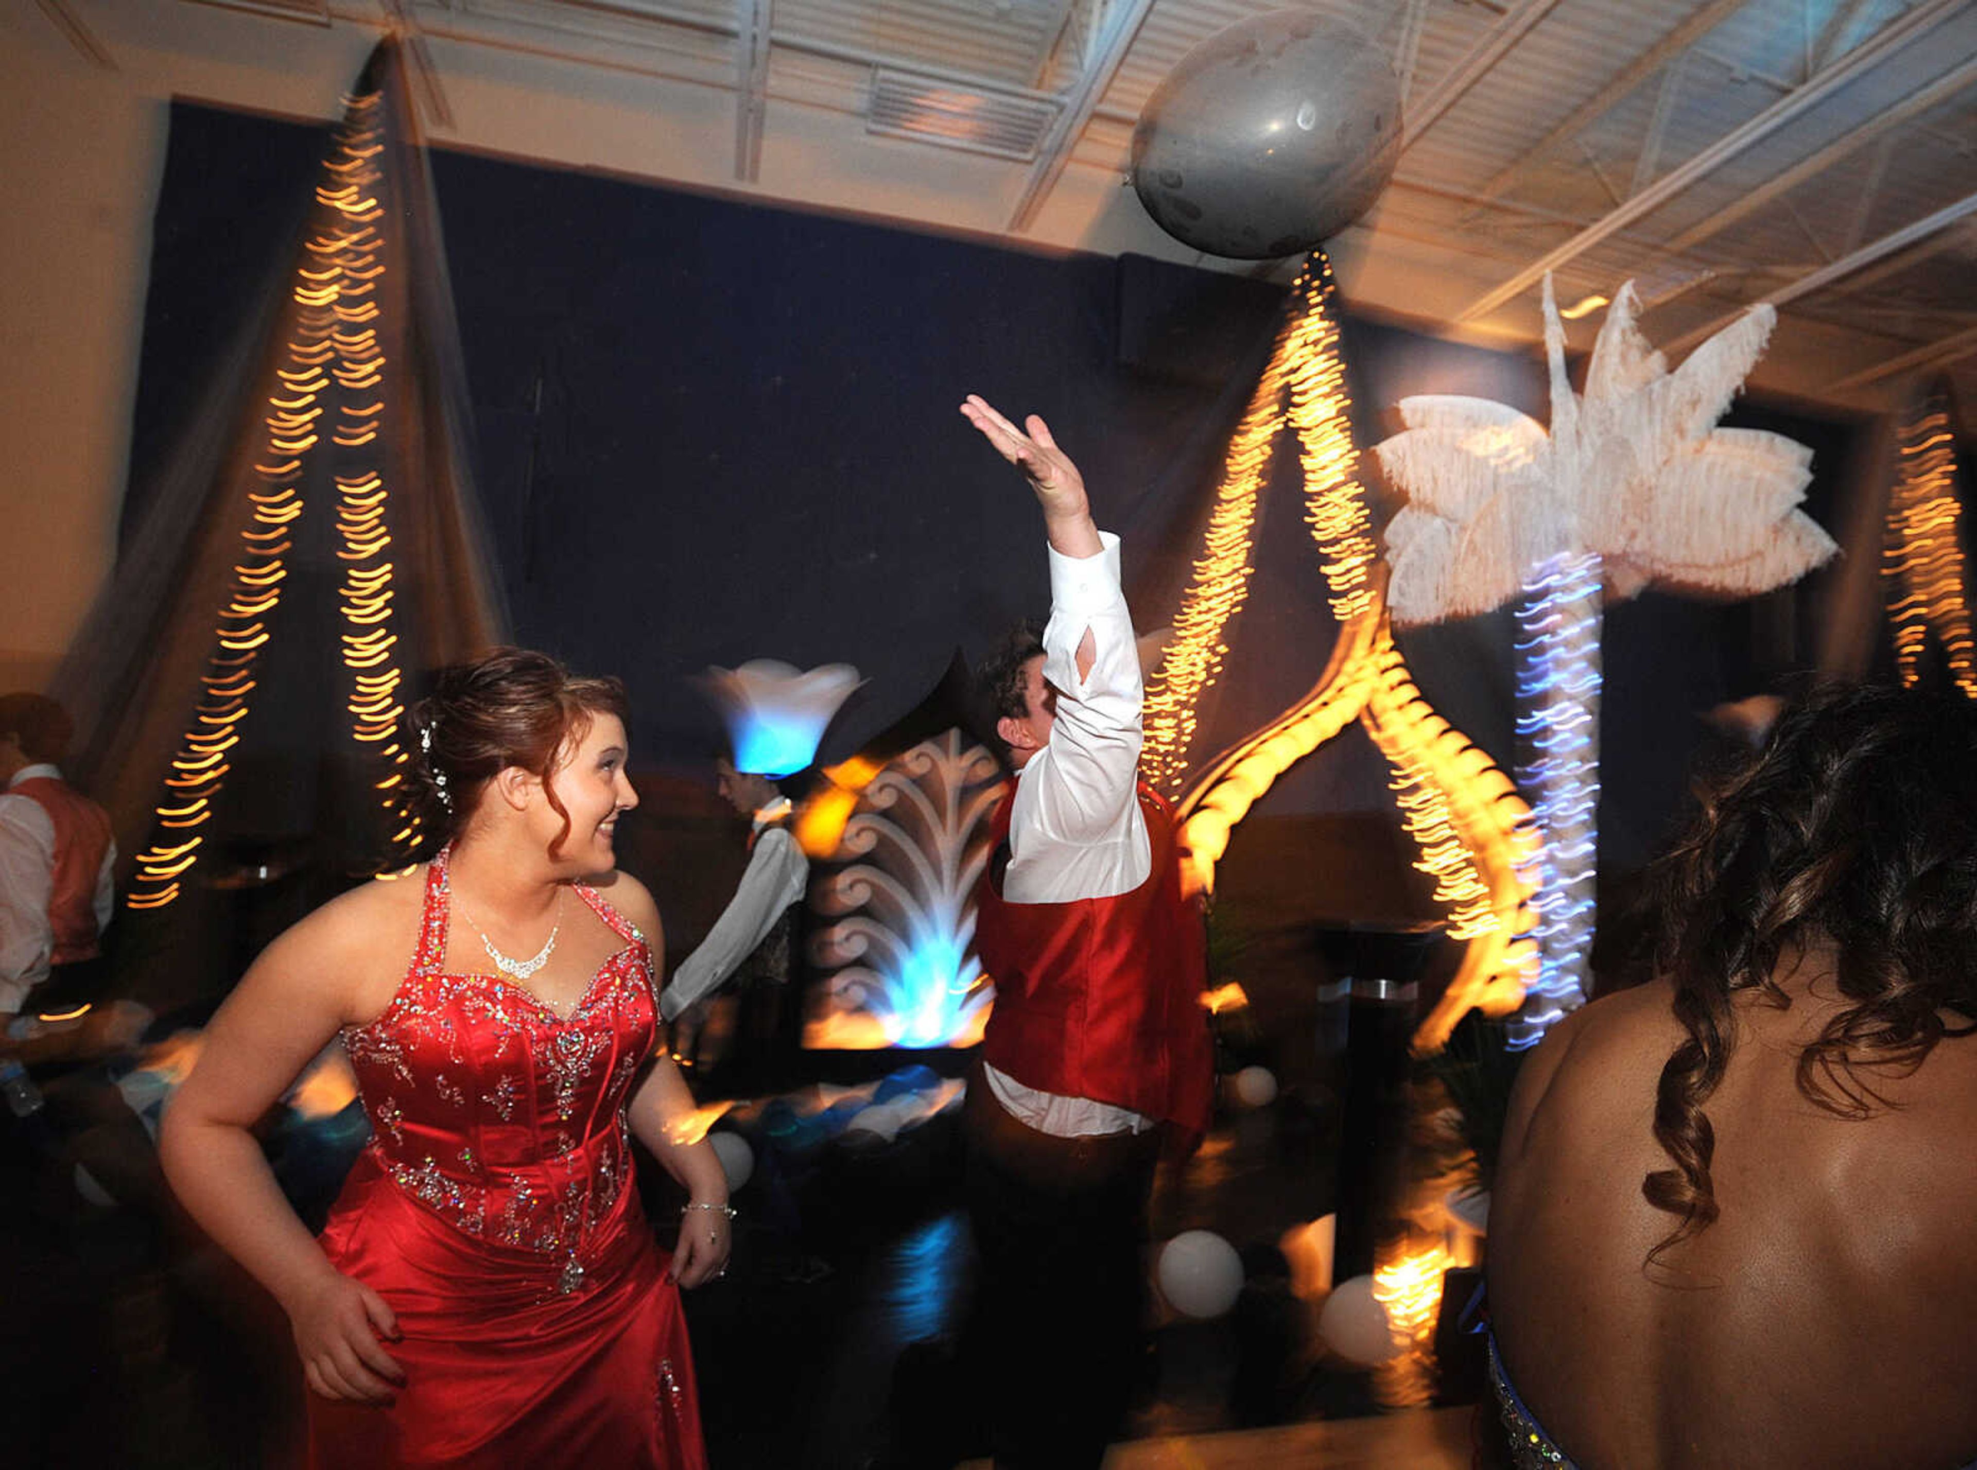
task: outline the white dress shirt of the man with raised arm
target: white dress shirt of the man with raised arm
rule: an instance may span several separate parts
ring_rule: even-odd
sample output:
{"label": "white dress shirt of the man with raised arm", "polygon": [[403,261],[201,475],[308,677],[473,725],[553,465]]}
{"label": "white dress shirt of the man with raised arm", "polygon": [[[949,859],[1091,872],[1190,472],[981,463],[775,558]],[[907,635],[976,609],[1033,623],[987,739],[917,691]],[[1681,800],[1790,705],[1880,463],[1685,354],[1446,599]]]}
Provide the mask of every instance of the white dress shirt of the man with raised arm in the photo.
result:
{"label": "white dress shirt of the man with raised arm", "polygon": [[[1133,614],[1119,587],[1119,537],[1099,531],[1095,557],[1050,549],[1050,624],[1044,678],[1058,692],[1050,741],[1024,761],[1010,796],[1008,903],[1072,903],[1131,893],[1153,871],[1139,810],[1145,690]],[[1091,634],[1091,672],[1077,676],[1077,644]],[[1020,1122],[1056,1138],[1145,1132],[1153,1120],[1085,1097],[1024,1087],[983,1067],[988,1091]]]}

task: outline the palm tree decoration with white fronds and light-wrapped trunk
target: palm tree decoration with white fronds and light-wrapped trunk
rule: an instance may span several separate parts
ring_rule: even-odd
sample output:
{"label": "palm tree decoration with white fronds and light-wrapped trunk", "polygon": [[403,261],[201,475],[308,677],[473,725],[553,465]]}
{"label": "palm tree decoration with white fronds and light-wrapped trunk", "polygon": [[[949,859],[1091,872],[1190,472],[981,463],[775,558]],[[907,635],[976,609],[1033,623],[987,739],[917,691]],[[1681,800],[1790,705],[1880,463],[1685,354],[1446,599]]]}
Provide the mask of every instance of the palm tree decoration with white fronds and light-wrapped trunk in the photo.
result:
{"label": "palm tree decoration with white fronds and light-wrapped trunk", "polygon": [[1714,597],[1783,587],[1833,539],[1797,506],[1811,450],[1718,429],[1771,336],[1754,306],[1673,373],[1637,326],[1629,281],[1578,395],[1544,281],[1552,427],[1504,403],[1410,397],[1374,452],[1408,498],[1386,530],[1396,624],[1473,616],[1518,599],[1518,741],[1538,846],[1538,978],[1514,1023],[1530,1045],[1588,994],[1599,804],[1601,599],[1647,585]]}

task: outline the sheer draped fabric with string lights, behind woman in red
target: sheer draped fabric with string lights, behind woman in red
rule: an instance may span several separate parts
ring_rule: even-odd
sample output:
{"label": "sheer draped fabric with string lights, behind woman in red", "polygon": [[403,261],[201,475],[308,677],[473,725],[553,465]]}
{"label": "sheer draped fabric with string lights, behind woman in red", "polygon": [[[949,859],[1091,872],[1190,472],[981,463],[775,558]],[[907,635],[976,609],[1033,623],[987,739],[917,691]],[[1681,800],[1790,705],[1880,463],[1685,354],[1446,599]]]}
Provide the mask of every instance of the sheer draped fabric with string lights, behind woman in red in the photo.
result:
{"label": "sheer draped fabric with string lights, behind woman in red", "polygon": [[[354,739],[356,707],[403,703],[425,668],[506,630],[469,476],[469,393],[439,213],[397,41],[378,45],[348,107],[318,142],[314,178],[225,196],[229,215],[291,221],[277,273],[255,273],[245,288],[231,273],[192,290],[152,281],[146,336],[194,344],[188,364],[208,381],[176,393],[170,447],[138,445],[138,512],[49,688],[75,719],[65,771],[109,808],[127,869],[152,836],[160,848],[202,838],[196,881],[235,842],[312,834],[330,867],[372,871],[399,824],[370,792],[384,743]],[[348,160],[338,162],[352,148],[366,164],[362,215],[338,194],[352,186]],[[332,283],[340,294],[328,300],[322,243],[338,233],[356,241],[360,279]],[[202,356],[214,322],[237,310],[219,300],[241,294],[257,308],[229,346]],[[376,371],[354,371],[356,362]],[[320,366],[320,383],[304,381],[301,364]],[[281,512],[283,537],[269,541],[277,496],[299,510]],[[281,565],[259,567],[257,553]],[[253,622],[229,636],[223,609],[241,597],[241,565],[255,567]],[[358,583],[352,565],[364,569]],[[376,601],[380,591],[387,601]],[[387,642],[352,642],[370,630]],[[382,662],[378,648],[389,650]],[[356,676],[378,680],[387,666],[403,682],[376,701],[386,686],[366,690]],[[164,784],[174,751],[233,670],[251,674],[253,694],[245,715],[225,711],[237,739],[212,773],[210,816],[154,834],[158,808],[188,800]]]}

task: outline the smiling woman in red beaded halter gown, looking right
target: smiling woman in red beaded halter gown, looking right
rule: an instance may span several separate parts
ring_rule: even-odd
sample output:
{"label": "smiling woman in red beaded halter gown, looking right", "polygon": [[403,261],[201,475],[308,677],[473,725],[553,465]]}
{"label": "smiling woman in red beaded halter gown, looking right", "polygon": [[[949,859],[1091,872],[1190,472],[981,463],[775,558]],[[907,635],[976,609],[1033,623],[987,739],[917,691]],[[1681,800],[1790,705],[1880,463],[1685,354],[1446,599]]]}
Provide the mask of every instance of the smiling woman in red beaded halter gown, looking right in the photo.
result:
{"label": "smiling woman in red beaded halter gown, looking right", "polygon": [[[728,1187],[654,1047],[658,911],[613,869],[623,692],[500,650],[413,729],[449,846],[255,960],[166,1114],[166,1172],[287,1310],[316,1466],[700,1470],[678,1286],[724,1270]],[[372,1142],[312,1239],[249,1126],[338,1033]],[[670,1263],[629,1134],[688,1189]]]}

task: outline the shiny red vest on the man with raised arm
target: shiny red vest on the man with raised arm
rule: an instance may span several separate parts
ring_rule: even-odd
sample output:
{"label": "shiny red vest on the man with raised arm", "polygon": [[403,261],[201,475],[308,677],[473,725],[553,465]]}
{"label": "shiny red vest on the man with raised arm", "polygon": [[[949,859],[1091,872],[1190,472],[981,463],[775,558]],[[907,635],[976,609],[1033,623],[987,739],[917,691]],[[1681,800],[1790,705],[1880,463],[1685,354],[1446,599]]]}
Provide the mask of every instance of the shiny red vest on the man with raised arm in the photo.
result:
{"label": "shiny red vest on the man with raised arm", "polygon": [[[1010,782],[996,850],[1014,804]],[[1153,871],[1131,893],[1008,903],[990,861],[975,889],[975,948],[996,992],[983,1059],[1024,1087],[1159,1118],[1192,1144],[1214,1099],[1202,915],[1180,897],[1174,810],[1147,786],[1139,806]]]}

